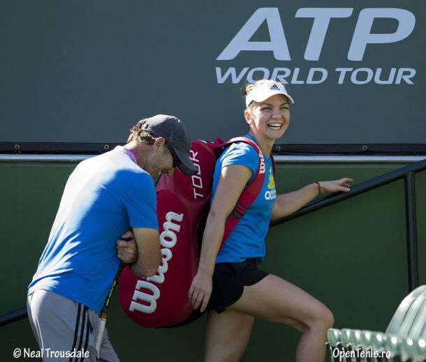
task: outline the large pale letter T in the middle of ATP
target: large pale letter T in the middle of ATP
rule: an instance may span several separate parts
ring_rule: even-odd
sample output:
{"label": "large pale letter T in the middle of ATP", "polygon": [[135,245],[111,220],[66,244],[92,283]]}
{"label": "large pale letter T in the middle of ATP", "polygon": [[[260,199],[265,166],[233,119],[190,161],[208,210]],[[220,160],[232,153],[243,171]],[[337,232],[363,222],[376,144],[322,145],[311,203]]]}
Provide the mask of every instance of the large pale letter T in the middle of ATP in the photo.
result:
{"label": "large pale letter T in the middle of ATP", "polygon": [[323,49],[325,34],[330,19],[334,17],[350,17],[353,8],[301,8],[295,17],[314,17],[311,35],[304,52],[304,59],[317,61]]}

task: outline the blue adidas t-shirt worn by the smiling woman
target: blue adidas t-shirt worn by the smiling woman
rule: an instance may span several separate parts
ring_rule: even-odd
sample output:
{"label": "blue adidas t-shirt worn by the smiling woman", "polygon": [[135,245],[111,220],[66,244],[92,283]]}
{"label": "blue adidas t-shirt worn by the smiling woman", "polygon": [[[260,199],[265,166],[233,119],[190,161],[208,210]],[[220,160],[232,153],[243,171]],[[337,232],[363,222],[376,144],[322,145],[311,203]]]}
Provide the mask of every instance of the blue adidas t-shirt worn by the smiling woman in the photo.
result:
{"label": "blue adidas t-shirt worn by the smiling woman", "polygon": [[[245,135],[244,137],[249,137],[256,142],[256,139],[251,135]],[[247,209],[244,216],[238,221],[221,250],[219,250],[216,263],[243,262],[245,259],[252,257],[258,258],[260,262],[265,257],[265,236],[277,194],[275,191],[272,160],[265,155],[263,156],[265,157],[266,174],[260,193],[249,209]],[[252,146],[243,142],[231,144],[216,161],[212,197],[216,193],[216,186],[223,167],[228,165],[244,165],[249,167],[253,174],[255,174],[258,164],[259,156]]]}

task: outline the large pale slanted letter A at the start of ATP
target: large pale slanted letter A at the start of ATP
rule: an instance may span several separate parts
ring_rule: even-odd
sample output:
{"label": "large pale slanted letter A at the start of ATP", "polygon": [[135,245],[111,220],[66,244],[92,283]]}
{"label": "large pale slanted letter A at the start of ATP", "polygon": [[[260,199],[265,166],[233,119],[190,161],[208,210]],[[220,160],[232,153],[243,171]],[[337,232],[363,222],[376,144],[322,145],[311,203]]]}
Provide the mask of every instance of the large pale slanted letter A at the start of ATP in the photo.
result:
{"label": "large pale slanted letter A at the start of ATP", "polygon": [[[265,20],[271,41],[249,41]],[[278,8],[259,8],[256,10],[216,60],[232,60],[242,50],[272,50],[275,59],[291,60]]]}

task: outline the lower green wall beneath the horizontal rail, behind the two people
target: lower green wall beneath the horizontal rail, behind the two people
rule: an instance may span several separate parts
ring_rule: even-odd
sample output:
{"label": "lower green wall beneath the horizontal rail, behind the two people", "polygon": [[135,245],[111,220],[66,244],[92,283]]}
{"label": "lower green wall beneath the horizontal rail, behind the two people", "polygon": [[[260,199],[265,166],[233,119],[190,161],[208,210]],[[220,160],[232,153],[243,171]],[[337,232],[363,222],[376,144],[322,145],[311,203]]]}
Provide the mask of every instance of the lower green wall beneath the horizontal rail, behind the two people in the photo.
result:
{"label": "lower green wall beneath the horizontal rail, behind the two people", "polygon": [[[282,193],[323,179],[360,183],[403,164],[280,164]],[[71,163],[0,163],[2,218],[0,314],[25,306],[27,285],[47,241]],[[426,172],[416,175],[420,284],[426,284]],[[263,269],[325,303],[337,328],[384,331],[408,293],[404,182],[372,190],[270,229]],[[133,324],[115,296],[108,316],[122,361],[201,361],[204,319],[178,329]],[[299,333],[257,321],[242,361],[291,361]],[[232,342],[232,341],[231,341]],[[27,319],[0,329],[2,361],[13,349],[36,349]],[[33,359],[34,361],[34,359]]]}

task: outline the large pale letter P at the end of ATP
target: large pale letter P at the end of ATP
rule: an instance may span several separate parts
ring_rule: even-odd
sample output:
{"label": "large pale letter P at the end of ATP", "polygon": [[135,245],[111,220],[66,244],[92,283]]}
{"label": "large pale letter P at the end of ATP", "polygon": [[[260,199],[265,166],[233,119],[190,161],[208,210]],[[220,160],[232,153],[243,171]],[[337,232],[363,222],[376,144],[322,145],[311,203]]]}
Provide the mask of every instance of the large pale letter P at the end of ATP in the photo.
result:
{"label": "large pale letter P at the end of ATP", "polygon": [[[373,22],[376,17],[387,17],[398,21],[395,33],[372,34]],[[353,33],[348,59],[362,61],[367,44],[395,43],[411,34],[416,24],[416,17],[408,10],[397,8],[368,8],[361,10]]]}

